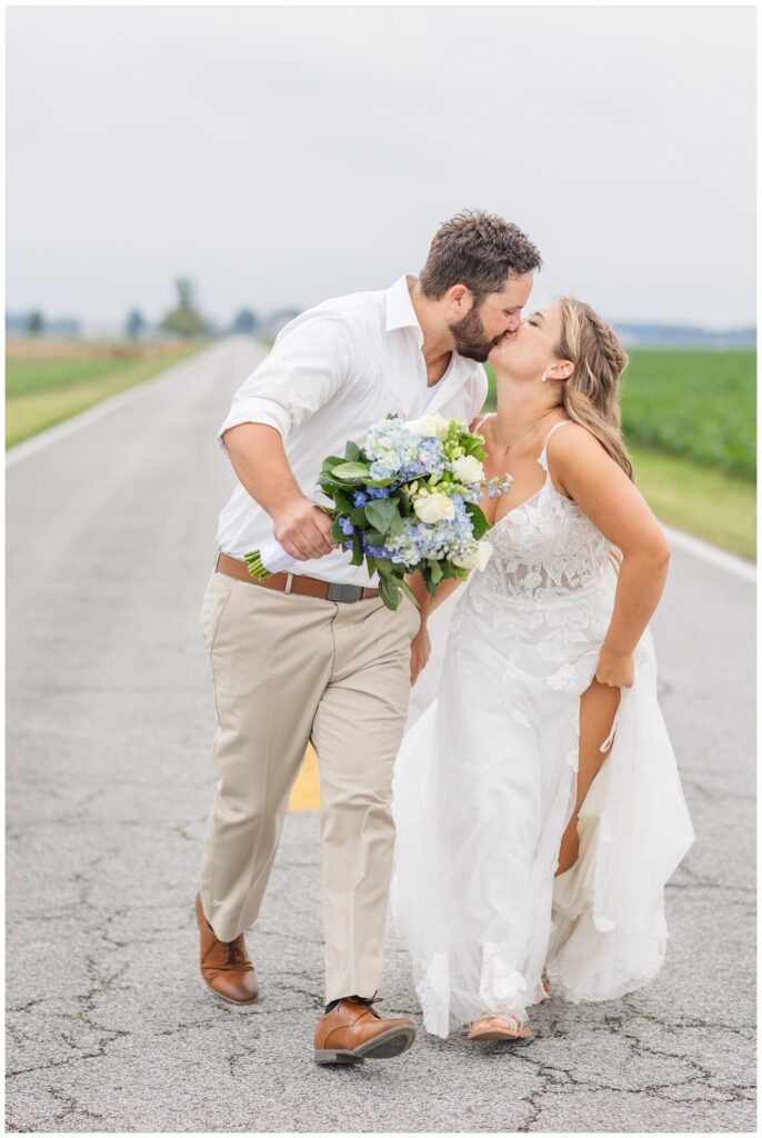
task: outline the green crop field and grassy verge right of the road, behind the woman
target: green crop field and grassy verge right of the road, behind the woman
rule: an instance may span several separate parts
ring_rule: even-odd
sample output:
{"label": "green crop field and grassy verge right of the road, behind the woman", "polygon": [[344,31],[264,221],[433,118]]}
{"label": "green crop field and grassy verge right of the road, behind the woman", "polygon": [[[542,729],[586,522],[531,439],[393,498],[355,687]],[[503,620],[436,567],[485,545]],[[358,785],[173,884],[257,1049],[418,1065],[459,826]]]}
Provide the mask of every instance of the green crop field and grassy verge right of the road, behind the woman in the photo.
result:
{"label": "green crop field and grassy verge right of the road, behind the woman", "polygon": [[[668,525],[754,558],[756,355],[633,348],[622,380],[636,483]],[[496,406],[495,377],[488,404]]]}

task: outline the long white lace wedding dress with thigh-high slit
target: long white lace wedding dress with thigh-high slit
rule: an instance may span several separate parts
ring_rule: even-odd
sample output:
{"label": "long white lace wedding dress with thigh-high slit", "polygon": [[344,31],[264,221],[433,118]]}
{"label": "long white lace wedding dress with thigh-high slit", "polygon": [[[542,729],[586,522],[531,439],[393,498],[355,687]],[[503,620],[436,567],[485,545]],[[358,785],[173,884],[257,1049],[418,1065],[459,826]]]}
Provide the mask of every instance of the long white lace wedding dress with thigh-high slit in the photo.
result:
{"label": "long white lace wedding dress with thigh-high slit", "polygon": [[[557,423],[553,431],[558,427]],[[548,438],[553,434],[549,432]],[[489,531],[454,610],[438,698],[397,758],[391,910],[424,1025],[522,1023],[545,998],[614,999],[664,962],[663,890],[694,840],[647,629],[607,757],[555,877],[577,793],[580,696],[611,619],[611,545],[553,485]]]}

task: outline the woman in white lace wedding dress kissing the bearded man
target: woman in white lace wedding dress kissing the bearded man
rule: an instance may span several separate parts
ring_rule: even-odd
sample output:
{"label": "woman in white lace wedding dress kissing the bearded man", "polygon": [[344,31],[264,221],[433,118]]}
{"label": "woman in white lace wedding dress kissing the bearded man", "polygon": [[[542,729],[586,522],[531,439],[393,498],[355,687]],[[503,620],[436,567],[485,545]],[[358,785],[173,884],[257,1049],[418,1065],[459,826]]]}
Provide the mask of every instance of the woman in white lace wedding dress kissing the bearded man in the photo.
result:
{"label": "woman in white lace wedding dress kissing the bearded man", "polygon": [[[516,1039],[550,987],[614,999],[656,975],[664,885],[694,833],[656,702],[647,625],[669,549],[621,437],[627,356],[562,299],[490,362],[497,414],[473,426],[486,477],[513,485],[483,503],[492,555],[397,758],[391,905],[426,1030]],[[424,611],[414,670],[457,584]]]}

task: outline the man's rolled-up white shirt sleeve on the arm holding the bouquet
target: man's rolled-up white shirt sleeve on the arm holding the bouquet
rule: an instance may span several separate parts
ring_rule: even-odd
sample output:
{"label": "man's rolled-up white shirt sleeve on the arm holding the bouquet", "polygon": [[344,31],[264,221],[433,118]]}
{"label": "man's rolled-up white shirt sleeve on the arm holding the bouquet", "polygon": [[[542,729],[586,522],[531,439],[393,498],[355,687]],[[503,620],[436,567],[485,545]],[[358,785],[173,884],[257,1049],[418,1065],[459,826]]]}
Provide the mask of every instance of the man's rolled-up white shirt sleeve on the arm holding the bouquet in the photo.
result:
{"label": "man's rolled-up white shirt sleeve on the arm holding the bouquet", "polygon": [[358,374],[357,337],[345,316],[310,310],[279,335],[266,360],[233,396],[217,431],[240,423],[265,423],[283,439]]}

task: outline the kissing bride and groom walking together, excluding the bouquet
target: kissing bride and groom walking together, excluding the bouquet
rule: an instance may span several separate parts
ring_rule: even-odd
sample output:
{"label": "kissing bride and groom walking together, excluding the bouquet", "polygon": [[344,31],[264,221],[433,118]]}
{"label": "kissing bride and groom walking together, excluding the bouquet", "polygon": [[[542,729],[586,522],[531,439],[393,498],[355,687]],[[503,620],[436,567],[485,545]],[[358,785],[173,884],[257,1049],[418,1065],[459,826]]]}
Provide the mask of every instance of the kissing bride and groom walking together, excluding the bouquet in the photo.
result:
{"label": "kissing bride and groom walking together, excluding the bouquet", "polygon": [[[466,212],[420,275],[291,321],[218,431],[238,479],[201,624],[218,775],[196,909],[216,997],[252,1005],[245,941],[291,786],[318,757],[325,1011],[318,1063],[403,1054],[409,1017],[376,1008],[387,909],[426,1031],[531,1036],[554,995],[614,999],[660,971],[664,885],[693,827],[656,700],[648,621],[664,536],[621,434],[627,356],[587,304],[528,318],[535,245]],[[497,411],[482,414],[489,360]],[[484,439],[491,556],[387,608],[331,536],[323,460],[395,413],[461,419]],[[246,554],[275,537],[293,571]],[[458,586],[437,699],[406,733],[428,620]]]}

